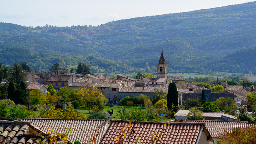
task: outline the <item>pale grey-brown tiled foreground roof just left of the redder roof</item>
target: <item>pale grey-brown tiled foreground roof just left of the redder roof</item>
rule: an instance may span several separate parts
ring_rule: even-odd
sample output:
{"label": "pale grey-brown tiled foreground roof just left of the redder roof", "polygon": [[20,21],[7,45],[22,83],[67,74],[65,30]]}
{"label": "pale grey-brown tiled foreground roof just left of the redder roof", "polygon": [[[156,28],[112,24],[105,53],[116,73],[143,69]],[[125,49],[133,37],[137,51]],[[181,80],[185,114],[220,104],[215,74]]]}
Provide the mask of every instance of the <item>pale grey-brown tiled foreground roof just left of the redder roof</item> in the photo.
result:
{"label": "pale grey-brown tiled foreground roof just left of the redder roof", "polygon": [[[108,127],[107,119],[42,119],[42,118],[22,118],[22,122],[31,122],[43,132],[48,133],[49,129],[56,132],[68,132],[70,140],[78,140],[81,143],[88,143],[92,134],[95,136],[96,142],[99,143]],[[68,131],[69,127],[74,127],[72,133]],[[49,128],[49,129],[48,129]],[[94,130],[98,130],[99,133]],[[51,132],[50,134],[53,134]],[[70,135],[72,134],[72,136]],[[85,141],[84,141],[85,140]]]}

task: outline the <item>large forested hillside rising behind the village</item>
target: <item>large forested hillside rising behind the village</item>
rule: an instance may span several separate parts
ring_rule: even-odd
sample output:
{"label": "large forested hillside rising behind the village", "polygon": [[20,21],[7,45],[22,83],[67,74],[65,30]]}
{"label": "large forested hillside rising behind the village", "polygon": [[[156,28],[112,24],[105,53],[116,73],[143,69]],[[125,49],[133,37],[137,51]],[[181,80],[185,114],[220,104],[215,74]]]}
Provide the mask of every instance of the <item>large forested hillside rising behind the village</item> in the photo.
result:
{"label": "large forested hillside rising behind the village", "polygon": [[256,61],[255,23],[256,2],[118,20],[96,27],[47,24],[33,28],[0,23],[0,48],[28,49],[37,57],[41,53],[50,57],[58,54],[60,60],[65,56],[80,56],[78,60],[84,56],[101,57],[129,65],[128,72],[145,68],[146,62],[149,67],[156,66],[163,49],[169,71],[256,74],[252,62]]}

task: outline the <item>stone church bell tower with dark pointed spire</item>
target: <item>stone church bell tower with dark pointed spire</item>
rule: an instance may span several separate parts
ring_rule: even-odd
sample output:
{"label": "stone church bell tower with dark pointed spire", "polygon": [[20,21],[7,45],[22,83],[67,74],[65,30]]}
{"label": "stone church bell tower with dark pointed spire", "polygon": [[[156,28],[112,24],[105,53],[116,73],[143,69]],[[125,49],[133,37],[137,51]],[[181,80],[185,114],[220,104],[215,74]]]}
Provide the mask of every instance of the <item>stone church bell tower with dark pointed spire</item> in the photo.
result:
{"label": "stone church bell tower with dark pointed spire", "polygon": [[168,74],[167,65],[168,64],[167,64],[167,62],[165,62],[163,50],[162,50],[159,62],[156,65],[157,65],[157,69],[156,69],[157,78],[166,78],[167,79],[167,74]]}

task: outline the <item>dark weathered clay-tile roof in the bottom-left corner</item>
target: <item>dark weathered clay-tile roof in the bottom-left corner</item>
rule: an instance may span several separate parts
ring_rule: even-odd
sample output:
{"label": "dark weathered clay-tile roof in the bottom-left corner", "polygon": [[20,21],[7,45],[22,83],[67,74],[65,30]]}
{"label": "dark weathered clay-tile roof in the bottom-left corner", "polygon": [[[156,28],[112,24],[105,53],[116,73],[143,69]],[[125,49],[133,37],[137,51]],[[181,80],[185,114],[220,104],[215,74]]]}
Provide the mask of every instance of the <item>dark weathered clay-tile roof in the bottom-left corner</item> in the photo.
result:
{"label": "dark weathered clay-tile roof in the bottom-left corner", "polygon": [[[38,144],[39,139],[42,143],[48,143],[48,133],[40,130],[31,122],[24,121],[0,121],[0,142],[3,144]],[[40,136],[41,135],[41,136]],[[68,144],[73,144],[67,140]]]}

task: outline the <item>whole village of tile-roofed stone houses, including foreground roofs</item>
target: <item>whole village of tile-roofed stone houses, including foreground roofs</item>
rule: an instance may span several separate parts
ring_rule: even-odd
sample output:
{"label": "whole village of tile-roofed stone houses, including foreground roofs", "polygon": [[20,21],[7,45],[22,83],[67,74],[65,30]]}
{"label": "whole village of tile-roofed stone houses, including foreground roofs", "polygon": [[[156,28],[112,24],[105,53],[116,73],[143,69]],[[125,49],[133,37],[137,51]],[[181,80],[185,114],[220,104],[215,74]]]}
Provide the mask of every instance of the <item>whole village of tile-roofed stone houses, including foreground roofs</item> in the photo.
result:
{"label": "whole village of tile-roofed stone houses, including foreground roofs", "polygon": [[[140,120],[138,117],[131,120],[116,119],[114,116],[117,116],[117,111],[113,111],[113,109],[112,111],[108,111],[106,116],[103,116],[107,119],[79,119],[78,117],[75,119],[59,119],[57,117],[48,118],[47,116],[41,116],[41,118],[21,117],[21,120],[14,121],[1,119],[1,142],[22,144],[40,143],[40,135],[44,136],[41,141],[46,142],[48,140],[46,135],[50,130],[49,133],[52,134],[50,136],[53,140],[64,140],[66,143],[70,144],[213,144],[225,143],[225,139],[221,137],[224,136],[225,132],[232,132],[232,130],[236,128],[245,129],[255,127],[254,121],[245,121],[240,118],[240,115],[244,113],[247,116],[255,112],[253,108],[247,108],[247,105],[250,105],[247,97],[248,94],[255,93],[256,85],[245,88],[243,85],[229,85],[227,82],[221,82],[218,87],[222,86],[222,89],[214,91],[214,85],[206,88],[201,84],[193,84],[193,82],[190,81],[186,82],[183,76],[168,77],[167,65],[162,51],[159,61],[156,64],[156,78],[140,76],[140,79],[134,79],[122,74],[117,74],[116,77],[103,76],[103,74],[92,76],[90,74],[66,73],[64,70],[49,71],[41,74],[36,73],[35,70],[24,72],[23,75],[25,74],[26,84],[28,85],[26,89],[30,91],[30,93],[36,91],[37,93],[40,92],[48,96],[47,93],[49,92],[47,92],[47,90],[50,91],[50,87],[53,87],[56,92],[62,91],[64,88],[68,89],[68,91],[83,90],[86,88],[90,91],[91,88],[96,88],[95,90],[101,92],[102,96],[107,101],[107,103],[104,103],[103,108],[105,105],[108,107],[115,107],[116,105],[132,106],[136,104],[134,100],[132,101],[132,98],[138,97],[139,100],[141,97],[145,97],[144,102],[142,101],[141,104],[144,105],[148,113],[153,113],[155,119],[150,121],[148,118]],[[156,104],[160,103],[161,100],[166,101],[161,101],[162,104],[157,106],[156,104],[152,105],[152,101],[149,98],[152,98],[153,94],[157,95],[159,93],[166,96],[171,86],[170,84],[176,86],[178,106],[172,107],[171,109],[167,108],[168,96],[167,100],[164,96],[163,98],[156,98],[157,96],[153,97],[153,101],[155,99],[157,100],[153,102]],[[51,86],[49,87],[49,85]],[[209,105],[214,109],[213,111],[210,110],[212,108],[205,106],[205,103],[213,104],[218,100],[226,99],[231,101],[222,101],[222,104],[218,105],[218,108],[214,108],[217,107],[216,104]],[[72,102],[75,100],[79,100],[79,98],[73,97],[66,101]],[[95,99],[95,101],[97,100]],[[150,104],[145,102],[147,100]],[[175,101],[175,99],[173,100]],[[52,108],[60,108],[64,111],[65,109],[68,110],[67,102],[58,102],[58,104]],[[50,102],[48,101],[48,103]],[[44,104],[47,105],[47,103]],[[234,108],[230,110],[228,109],[229,106],[223,106],[230,104],[230,107],[234,107],[236,110]],[[74,103],[72,103],[72,105],[75,106]],[[192,109],[193,107],[196,109]],[[197,109],[199,107],[203,107],[204,110]],[[51,107],[46,106],[46,109],[49,108],[51,109]],[[153,108],[155,108],[154,111],[152,110]],[[237,108],[240,109],[237,110]],[[97,110],[92,108],[92,111]],[[116,114],[114,115],[113,113]],[[140,113],[146,113],[146,111],[140,111]],[[120,112],[118,114],[120,114]],[[40,113],[40,115],[42,115],[42,113]],[[160,122],[160,119],[156,120],[158,116],[169,117],[170,121]],[[58,132],[66,132],[66,135],[62,135],[62,139],[60,139],[61,136],[59,137],[55,134]],[[34,135],[31,136],[31,134]]]}

